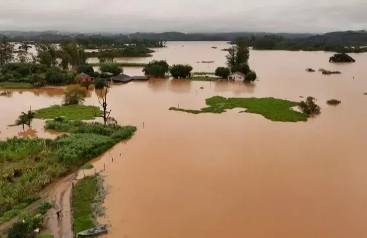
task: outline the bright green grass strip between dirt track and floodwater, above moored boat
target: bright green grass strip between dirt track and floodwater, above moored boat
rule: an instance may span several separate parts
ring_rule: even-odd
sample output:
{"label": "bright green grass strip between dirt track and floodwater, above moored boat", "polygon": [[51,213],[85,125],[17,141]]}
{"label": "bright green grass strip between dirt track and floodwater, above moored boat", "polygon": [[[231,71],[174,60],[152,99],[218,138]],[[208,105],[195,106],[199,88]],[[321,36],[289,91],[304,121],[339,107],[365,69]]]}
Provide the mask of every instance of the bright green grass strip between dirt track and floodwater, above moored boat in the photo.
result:
{"label": "bright green grass strip between dirt track and floodwater, above moored boat", "polygon": [[97,196],[98,180],[96,176],[86,177],[74,187],[74,223],[75,232],[94,227],[92,204]]}

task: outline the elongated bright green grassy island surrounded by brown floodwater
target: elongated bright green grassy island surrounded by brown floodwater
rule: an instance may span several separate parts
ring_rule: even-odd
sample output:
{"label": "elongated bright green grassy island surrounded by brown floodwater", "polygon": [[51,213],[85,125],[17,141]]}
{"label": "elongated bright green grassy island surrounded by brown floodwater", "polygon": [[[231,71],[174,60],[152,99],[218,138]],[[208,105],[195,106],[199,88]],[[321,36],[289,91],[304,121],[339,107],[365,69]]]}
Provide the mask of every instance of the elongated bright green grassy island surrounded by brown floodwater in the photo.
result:
{"label": "elongated bright green grassy island surrounded by brown floodwater", "polygon": [[307,121],[309,117],[305,113],[291,110],[291,107],[298,106],[298,102],[292,102],[275,98],[224,98],[214,96],[205,100],[208,107],[200,110],[187,110],[171,107],[169,110],[189,112],[193,114],[199,113],[223,113],[226,109],[246,108],[247,113],[255,113],[264,116],[271,121]]}

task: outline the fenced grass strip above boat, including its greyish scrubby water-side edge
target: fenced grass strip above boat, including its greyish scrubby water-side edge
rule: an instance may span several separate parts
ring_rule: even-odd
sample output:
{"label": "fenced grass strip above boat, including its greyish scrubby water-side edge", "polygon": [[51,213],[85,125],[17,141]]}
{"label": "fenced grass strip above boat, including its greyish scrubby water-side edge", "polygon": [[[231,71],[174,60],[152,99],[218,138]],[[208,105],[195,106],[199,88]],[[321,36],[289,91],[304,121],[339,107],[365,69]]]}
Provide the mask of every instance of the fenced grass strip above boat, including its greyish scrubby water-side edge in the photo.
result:
{"label": "fenced grass strip above boat, including its greyish scrubby water-side edge", "polygon": [[74,224],[75,232],[95,226],[94,220],[103,214],[104,199],[102,179],[98,176],[86,177],[74,187]]}

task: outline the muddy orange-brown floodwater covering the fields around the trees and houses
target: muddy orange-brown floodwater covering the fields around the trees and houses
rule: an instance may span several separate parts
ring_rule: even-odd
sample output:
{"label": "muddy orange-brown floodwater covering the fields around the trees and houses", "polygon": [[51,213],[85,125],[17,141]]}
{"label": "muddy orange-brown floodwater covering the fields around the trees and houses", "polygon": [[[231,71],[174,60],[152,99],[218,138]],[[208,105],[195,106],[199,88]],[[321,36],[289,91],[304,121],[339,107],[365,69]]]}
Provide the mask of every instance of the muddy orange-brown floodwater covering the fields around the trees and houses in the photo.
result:
{"label": "muddy orange-brown floodwater covering the fields around the trees and houses", "polygon": [[[154,53],[157,59],[189,63],[194,71],[213,71],[225,61],[223,42],[168,45]],[[112,87],[111,116],[138,130],[94,162],[97,170],[106,169],[109,193],[100,222],[110,225],[108,237],[367,237],[367,54],[350,54],[356,59],[350,64],[328,63],[331,54],[251,51],[249,63],[259,76],[253,85],[153,80]],[[196,63],[201,60],[215,62]],[[342,74],[306,72],[308,67]],[[30,104],[38,109],[62,100],[59,93],[36,92],[42,91],[0,97],[1,138],[22,130],[6,125]],[[286,123],[239,110],[168,111],[178,104],[203,107],[214,95],[313,96],[322,113]],[[332,98],[342,103],[327,106]],[[94,92],[86,104],[98,104]],[[54,136],[42,126],[36,120],[32,129]]]}

